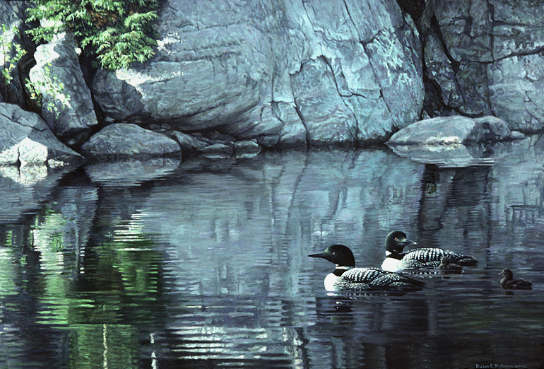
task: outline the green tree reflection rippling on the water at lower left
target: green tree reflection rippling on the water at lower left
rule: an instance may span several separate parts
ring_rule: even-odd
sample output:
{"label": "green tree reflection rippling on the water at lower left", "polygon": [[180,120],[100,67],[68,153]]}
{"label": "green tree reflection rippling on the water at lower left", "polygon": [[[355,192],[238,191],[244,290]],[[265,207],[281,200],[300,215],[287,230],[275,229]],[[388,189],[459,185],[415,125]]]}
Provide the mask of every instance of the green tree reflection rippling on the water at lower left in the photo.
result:
{"label": "green tree reflection rippling on the water at lower left", "polygon": [[[0,230],[0,305],[32,291],[34,323],[69,330],[61,344],[67,368],[138,368],[145,346],[140,324],[154,324],[162,310],[162,254],[137,219],[88,230],[93,235],[85,245],[74,242],[77,221],[52,204],[25,237],[16,237],[16,226]],[[37,272],[29,279],[31,270]]]}

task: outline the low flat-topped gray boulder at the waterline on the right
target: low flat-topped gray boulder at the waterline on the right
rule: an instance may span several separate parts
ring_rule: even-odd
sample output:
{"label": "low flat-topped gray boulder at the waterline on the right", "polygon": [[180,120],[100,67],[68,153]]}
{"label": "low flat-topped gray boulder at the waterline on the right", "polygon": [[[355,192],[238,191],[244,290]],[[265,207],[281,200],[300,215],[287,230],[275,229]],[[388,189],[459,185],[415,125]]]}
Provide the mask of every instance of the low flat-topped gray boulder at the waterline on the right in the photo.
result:
{"label": "low flat-topped gray boulder at the waterline on the right", "polygon": [[420,120],[396,132],[388,145],[459,146],[512,139],[506,122],[497,117],[472,119],[460,115]]}

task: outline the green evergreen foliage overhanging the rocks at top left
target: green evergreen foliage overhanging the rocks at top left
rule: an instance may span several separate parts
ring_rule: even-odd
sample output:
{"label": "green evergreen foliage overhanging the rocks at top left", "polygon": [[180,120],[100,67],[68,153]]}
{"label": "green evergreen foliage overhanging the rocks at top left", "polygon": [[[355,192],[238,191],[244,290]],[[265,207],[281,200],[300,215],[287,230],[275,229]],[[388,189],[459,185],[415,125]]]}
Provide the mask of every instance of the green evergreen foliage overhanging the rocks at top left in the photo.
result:
{"label": "green evergreen foliage overhanging the rocks at top left", "polygon": [[82,49],[105,69],[122,69],[153,56],[152,22],[159,0],[32,0],[29,21],[41,21],[29,30],[39,42],[70,30]]}

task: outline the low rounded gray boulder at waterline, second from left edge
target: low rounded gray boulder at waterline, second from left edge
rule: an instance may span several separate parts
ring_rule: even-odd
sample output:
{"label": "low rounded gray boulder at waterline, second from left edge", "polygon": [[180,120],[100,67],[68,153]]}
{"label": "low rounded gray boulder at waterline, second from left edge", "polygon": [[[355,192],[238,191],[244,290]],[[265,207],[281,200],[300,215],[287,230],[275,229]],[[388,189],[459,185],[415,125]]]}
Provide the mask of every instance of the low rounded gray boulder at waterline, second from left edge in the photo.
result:
{"label": "low rounded gray boulder at waterline, second from left edge", "polygon": [[179,144],[165,134],[136,124],[111,124],[90,137],[81,150],[99,159],[181,155]]}

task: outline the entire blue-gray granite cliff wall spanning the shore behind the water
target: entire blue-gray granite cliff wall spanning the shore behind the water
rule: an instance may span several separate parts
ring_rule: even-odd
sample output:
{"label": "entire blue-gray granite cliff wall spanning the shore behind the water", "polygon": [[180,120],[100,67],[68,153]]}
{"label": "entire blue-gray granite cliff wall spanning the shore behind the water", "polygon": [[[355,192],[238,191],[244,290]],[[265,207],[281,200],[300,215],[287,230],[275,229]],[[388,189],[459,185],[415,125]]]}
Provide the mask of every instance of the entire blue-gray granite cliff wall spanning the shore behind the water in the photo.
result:
{"label": "entire blue-gray granite cliff wall spanning the shore behind the water", "polygon": [[[23,35],[28,4],[0,0],[0,23]],[[70,103],[37,112],[95,157],[359,147],[449,115],[530,134],[544,127],[543,13],[512,0],[167,0],[155,57],[126,70],[82,69],[70,35],[37,49],[11,35],[29,57],[1,98],[32,107],[24,78],[49,66]],[[157,134],[165,144],[144,149]]]}

